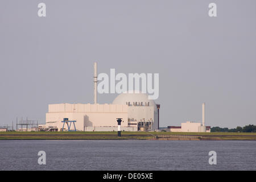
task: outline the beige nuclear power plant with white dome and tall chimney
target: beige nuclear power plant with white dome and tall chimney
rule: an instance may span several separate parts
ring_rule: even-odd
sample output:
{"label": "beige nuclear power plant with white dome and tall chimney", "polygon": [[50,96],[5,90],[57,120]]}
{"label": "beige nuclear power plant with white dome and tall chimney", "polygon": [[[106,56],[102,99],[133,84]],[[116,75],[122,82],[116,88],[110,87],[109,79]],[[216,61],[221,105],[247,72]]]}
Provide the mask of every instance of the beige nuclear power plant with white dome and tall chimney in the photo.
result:
{"label": "beige nuclear power plant with white dome and tall chimney", "polygon": [[41,131],[155,131],[159,129],[159,108],[144,93],[119,94],[112,104],[98,104],[97,63],[94,63],[94,104],[50,104]]}

